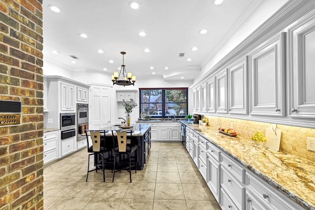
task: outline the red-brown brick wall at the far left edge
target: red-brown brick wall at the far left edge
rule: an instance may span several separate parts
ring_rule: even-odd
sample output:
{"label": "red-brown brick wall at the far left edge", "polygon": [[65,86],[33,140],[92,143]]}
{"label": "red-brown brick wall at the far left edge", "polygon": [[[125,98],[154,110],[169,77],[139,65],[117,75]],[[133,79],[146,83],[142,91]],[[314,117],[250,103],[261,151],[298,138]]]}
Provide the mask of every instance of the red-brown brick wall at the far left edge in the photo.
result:
{"label": "red-brown brick wall at the far left edge", "polygon": [[0,210],[43,209],[42,0],[0,1],[0,100],[22,124],[0,127]]}

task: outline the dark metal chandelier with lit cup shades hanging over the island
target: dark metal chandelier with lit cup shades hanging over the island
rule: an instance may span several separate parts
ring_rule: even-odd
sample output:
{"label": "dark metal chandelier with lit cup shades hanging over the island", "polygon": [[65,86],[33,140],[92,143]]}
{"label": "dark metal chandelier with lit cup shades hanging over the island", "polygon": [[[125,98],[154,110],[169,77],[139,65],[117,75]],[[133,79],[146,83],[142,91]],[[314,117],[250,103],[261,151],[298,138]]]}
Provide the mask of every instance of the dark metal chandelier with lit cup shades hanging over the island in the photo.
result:
{"label": "dark metal chandelier with lit cup shades hanging over the island", "polygon": [[123,85],[123,86],[128,86],[128,85],[133,85],[136,82],[136,76],[132,76],[131,72],[126,73],[126,68],[124,64],[124,55],[126,54],[125,52],[120,52],[123,55],[123,65],[122,68],[120,69],[120,72],[118,74],[118,71],[115,71],[114,74],[112,74],[112,81],[113,85]]}

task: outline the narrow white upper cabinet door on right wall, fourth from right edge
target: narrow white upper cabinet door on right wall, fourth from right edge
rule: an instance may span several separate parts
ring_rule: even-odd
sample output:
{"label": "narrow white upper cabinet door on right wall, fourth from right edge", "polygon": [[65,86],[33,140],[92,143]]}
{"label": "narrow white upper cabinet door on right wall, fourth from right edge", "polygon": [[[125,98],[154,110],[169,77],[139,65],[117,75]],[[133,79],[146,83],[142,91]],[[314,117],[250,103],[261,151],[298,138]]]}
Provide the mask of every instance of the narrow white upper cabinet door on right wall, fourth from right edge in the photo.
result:
{"label": "narrow white upper cabinet door on right wall, fourth from right edge", "polygon": [[217,113],[227,113],[227,69],[216,76]]}

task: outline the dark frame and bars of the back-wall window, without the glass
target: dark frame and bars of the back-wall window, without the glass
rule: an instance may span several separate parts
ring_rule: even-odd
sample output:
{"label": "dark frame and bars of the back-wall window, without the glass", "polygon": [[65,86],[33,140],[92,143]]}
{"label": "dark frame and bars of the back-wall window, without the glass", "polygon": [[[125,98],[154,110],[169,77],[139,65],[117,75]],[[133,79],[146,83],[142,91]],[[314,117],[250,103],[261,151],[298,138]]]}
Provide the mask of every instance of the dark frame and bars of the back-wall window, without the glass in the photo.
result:
{"label": "dark frame and bars of the back-wall window, without the glass", "polygon": [[[165,103],[165,90],[186,90],[186,102],[172,102],[170,104],[186,104],[186,115],[188,113],[188,88],[139,88],[139,118],[141,118],[141,108],[142,108],[142,104],[149,104],[152,102],[142,102],[142,90],[162,90],[162,102],[159,102],[162,104],[162,116],[154,116],[151,115],[151,118],[167,118],[168,115],[165,113],[165,104],[168,104],[169,102]],[[158,111],[159,112],[159,111]],[[149,113],[148,113],[149,114]],[[170,118],[184,118],[186,117],[186,115],[172,115],[169,116]]]}

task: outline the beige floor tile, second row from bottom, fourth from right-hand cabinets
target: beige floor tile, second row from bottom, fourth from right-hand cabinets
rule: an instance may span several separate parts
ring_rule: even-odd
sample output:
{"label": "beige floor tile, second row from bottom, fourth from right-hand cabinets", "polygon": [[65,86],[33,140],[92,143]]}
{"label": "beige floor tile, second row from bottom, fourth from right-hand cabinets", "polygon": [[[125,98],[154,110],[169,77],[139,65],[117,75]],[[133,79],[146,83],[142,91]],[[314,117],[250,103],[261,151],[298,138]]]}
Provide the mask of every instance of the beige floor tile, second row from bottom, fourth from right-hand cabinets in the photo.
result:
{"label": "beige floor tile, second row from bottom, fourth from right-hand cabinets", "polygon": [[129,183],[124,182],[103,182],[103,186],[98,190],[94,198],[124,198]]}

